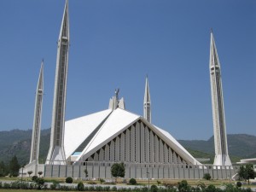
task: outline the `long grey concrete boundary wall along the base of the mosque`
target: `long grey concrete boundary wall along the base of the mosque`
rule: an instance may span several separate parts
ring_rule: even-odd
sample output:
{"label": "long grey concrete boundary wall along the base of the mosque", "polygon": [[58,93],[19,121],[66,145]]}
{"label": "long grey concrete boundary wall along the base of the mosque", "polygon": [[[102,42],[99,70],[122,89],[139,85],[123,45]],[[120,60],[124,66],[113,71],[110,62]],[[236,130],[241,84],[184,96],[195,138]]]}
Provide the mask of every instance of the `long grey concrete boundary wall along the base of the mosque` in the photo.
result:
{"label": "long grey concrete boundary wall along the base of the mosque", "polygon": [[[44,177],[85,177],[111,178],[111,166],[114,162],[86,162],[85,166],[44,165]],[[193,166],[173,164],[137,164],[125,163],[125,178],[172,178],[172,179],[201,179],[209,173],[213,179],[230,179],[238,172],[239,166]]]}

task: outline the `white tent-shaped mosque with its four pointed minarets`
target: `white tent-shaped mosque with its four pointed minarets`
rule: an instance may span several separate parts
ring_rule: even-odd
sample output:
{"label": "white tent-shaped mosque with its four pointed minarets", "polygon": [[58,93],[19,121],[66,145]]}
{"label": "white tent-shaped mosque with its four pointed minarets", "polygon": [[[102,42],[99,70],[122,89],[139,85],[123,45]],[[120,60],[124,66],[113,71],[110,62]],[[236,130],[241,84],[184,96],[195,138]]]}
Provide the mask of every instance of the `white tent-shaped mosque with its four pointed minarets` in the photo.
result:
{"label": "white tent-shaped mosque with its four pointed minarets", "polygon": [[[178,169],[193,167],[194,177],[201,177],[205,166],[201,166],[201,162],[189,154],[169,132],[151,123],[148,76],[145,83],[143,116],[125,109],[125,100],[119,98],[117,89],[110,98],[106,110],[66,121],[68,50],[67,0],[57,47],[49,153],[45,164],[38,164],[44,96],[42,61],[35,101],[31,156],[29,164],[25,166],[26,172],[32,170],[37,174],[38,171],[43,171],[45,177],[82,177],[81,167],[86,166],[93,177],[109,177],[109,166],[113,162],[124,162],[127,177],[143,177],[149,169],[152,177],[177,177],[177,174],[179,177],[186,177],[189,174],[190,177],[192,174],[192,171],[188,174],[185,171],[177,172],[173,166]],[[209,69],[215,143],[213,166],[232,166],[227,148],[220,64],[212,32]],[[96,167],[99,168],[95,170]],[[102,169],[104,171],[101,171],[101,167],[105,167]],[[199,167],[202,171],[195,171],[199,170]],[[222,175],[224,177],[228,173]],[[212,176],[214,177],[213,171]]]}

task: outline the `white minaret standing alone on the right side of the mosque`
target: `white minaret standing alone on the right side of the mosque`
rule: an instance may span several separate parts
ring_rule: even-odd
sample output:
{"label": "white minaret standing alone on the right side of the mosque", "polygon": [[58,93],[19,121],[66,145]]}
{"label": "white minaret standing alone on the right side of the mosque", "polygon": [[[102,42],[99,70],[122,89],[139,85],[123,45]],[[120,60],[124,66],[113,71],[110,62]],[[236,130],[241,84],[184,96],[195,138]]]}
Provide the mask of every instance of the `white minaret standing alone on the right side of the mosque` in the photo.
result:
{"label": "white minaret standing alone on the right side of the mosque", "polygon": [[231,166],[228,154],[227,134],[224,116],[224,99],[221,83],[218,53],[211,30],[210,79],[212,92],[212,118],[214,131],[215,166]]}

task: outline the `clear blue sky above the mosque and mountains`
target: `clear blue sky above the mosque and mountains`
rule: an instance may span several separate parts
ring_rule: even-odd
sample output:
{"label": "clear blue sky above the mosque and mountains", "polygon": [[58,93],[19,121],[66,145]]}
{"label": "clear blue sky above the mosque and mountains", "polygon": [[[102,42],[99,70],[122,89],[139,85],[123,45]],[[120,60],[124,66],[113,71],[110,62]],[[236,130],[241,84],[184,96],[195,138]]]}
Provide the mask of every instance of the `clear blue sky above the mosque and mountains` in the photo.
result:
{"label": "clear blue sky above the mosque and mountains", "polygon": [[[64,0],[0,1],[0,131],[32,129],[44,58],[42,128],[51,122]],[[114,89],[177,139],[212,136],[210,28],[222,68],[227,132],[256,135],[256,1],[70,0],[67,115],[108,108]]]}

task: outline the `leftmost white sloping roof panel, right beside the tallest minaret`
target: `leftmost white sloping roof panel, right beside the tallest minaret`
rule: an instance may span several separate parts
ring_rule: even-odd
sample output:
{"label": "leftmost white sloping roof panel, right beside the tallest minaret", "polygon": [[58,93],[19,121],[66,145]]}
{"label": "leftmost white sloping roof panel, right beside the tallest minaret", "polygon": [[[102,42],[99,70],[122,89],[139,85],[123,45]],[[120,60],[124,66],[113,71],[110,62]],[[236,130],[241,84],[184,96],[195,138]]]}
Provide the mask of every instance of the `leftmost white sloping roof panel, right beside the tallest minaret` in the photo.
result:
{"label": "leftmost white sloping roof panel, right beside the tallest minaret", "polygon": [[64,148],[66,158],[73,154],[74,150],[90,136],[90,133],[94,131],[111,112],[111,109],[107,109],[65,122]]}

